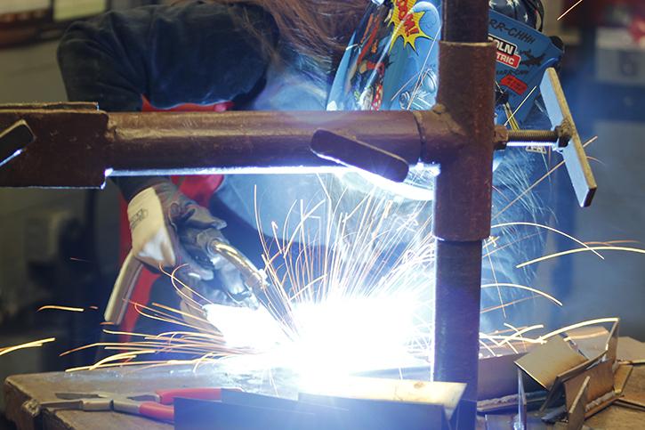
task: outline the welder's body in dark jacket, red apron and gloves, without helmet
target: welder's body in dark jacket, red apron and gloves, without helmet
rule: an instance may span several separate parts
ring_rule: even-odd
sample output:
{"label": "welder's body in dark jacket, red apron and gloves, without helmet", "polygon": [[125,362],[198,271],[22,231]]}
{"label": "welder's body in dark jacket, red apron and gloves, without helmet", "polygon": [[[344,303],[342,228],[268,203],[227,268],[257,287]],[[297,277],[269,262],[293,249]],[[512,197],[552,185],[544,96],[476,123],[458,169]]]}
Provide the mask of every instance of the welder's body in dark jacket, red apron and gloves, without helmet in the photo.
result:
{"label": "welder's body in dark jacket, red apron and gloves, without helmet", "polygon": [[[368,4],[213,0],[108,12],[68,29],[60,42],[60,70],[70,101],[98,101],[108,111],[325,110],[335,68]],[[537,4],[539,0],[490,2],[498,12],[534,27],[541,10]],[[257,261],[254,187],[265,196],[265,218],[279,219],[274,214],[286,213],[287,202],[302,198],[315,178],[233,175],[177,181],[149,176],[114,181],[127,202],[133,254],[153,272],[186,264],[183,272],[199,282],[212,280],[217,268],[192,258],[180,242],[181,231],[225,231],[234,247]],[[220,289],[225,294],[217,297],[230,303],[231,291]],[[173,297],[163,297],[168,295]],[[141,297],[165,303],[177,299],[165,277],[150,294],[133,300]],[[244,304],[245,298],[235,302]],[[133,329],[132,321],[125,329]]]}

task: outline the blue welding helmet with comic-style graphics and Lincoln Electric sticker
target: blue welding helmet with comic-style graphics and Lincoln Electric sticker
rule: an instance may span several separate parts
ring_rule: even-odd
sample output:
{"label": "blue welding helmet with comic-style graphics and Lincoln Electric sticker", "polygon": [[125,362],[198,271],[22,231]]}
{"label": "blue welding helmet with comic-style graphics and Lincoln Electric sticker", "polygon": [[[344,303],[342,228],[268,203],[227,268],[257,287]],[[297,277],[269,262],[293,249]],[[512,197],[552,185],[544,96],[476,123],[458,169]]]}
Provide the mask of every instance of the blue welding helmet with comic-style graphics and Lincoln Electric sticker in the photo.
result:
{"label": "blue welding helmet with comic-style graphics and Lincoln Electric sticker", "polygon": [[[540,0],[489,4],[489,40],[498,49],[496,122],[510,118],[512,126],[530,128],[525,121],[538,95],[530,89],[562,52],[535,29],[544,14]],[[327,110],[430,110],[439,89],[440,10],[440,0],[373,1],[336,71]],[[427,166],[413,167],[397,189],[431,199],[433,174]],[[346,182],[361,181],[357,174],[346,176]]]}

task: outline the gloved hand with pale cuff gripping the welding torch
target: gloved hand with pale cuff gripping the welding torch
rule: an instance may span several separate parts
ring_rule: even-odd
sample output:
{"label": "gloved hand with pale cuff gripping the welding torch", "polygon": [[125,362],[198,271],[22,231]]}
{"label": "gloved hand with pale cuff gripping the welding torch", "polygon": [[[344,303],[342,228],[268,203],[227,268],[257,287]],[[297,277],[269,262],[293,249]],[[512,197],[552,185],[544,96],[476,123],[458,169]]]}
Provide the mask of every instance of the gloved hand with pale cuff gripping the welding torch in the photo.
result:
{"label": "gloved hand with pale cuff gripping the welding torch", "polygon": [[187,264],[176,274],[189,286],[184,295],[197,293],[218,304],[259,305],[242,279],[249,271],[242,273],[223,254],[207,247],[212,242],[222,244],[235,251],[233,256],[247,261],[222,235],[220,230],[226,223],[186,197],[173,183],[157,182],[137,193],[128,205],[128,219],[133,254],[143,263],[155,268]]}

